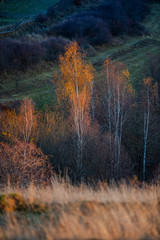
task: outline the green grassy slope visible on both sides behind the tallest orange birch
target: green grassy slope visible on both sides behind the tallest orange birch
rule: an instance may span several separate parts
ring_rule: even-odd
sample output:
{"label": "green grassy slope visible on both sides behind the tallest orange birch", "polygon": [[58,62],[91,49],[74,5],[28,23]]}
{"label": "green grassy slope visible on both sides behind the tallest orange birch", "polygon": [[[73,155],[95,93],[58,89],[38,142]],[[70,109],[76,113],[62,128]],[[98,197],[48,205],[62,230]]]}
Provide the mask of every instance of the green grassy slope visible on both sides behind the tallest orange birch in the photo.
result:
{"label": "green grassy slope visible on both sides behind the tallest orange birch", "polygon": [[[131,80],[136,90],[139,90],[146,74],[145,65],[150,54],[160,54],[160,4],[153,4],[151,7],[151,13],[144,22],[150,31],[150,36],[126,38],[118,46],[103,47],[93,57],[88,58],[97,71],[101,69],[106,57],[110,57],[114,61],[124,62],[129,68]],[[36,100],[40,107],[52,103],[54,94],[51,78],[56,69],[57,66],[50,65],[45,69],[39,67],[39,70],[21,74],[18,77],[18,87],[16,85],[17,74],[0,79],[3,80],[0,85],[0,101],[21,99],[24,95],[28,95]]]}

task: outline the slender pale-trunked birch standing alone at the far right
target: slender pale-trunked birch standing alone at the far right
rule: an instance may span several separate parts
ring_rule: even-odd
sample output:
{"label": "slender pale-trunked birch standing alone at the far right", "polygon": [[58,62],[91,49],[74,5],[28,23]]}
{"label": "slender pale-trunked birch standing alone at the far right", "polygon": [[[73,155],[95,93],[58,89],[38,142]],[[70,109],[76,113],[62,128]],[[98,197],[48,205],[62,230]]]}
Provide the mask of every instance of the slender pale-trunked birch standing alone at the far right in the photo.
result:
{"label": "slender pale-trunked birch standing alone at the far right", "polygon": [[142,90],[142,107],[144,109],[144,147],[143,147],[143,182],[146,180],[146,154],[148,143],[148,132],[152,110],[155,107],[158,96],[157,83],[152,78],[144,78]]}

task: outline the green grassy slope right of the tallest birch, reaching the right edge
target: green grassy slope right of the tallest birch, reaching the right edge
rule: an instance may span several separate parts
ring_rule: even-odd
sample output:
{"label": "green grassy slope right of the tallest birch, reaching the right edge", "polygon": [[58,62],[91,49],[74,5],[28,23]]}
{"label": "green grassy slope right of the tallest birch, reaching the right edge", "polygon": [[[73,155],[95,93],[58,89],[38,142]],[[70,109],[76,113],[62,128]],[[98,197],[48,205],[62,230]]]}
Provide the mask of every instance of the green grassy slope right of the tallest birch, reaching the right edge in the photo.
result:
{"label": "green grassy slope right of the tallest birch, reaching the right edge", "polygon": [[124,62],[130,71],[131,80],[136,90],[139,90],[141,80],[145,77],[145,67],[150,55],[160,54],[160,4],[153,4],[144,25],[150,36],[129,38],[119,47],[100,51],[91,61],[101,68],[106,57]]}

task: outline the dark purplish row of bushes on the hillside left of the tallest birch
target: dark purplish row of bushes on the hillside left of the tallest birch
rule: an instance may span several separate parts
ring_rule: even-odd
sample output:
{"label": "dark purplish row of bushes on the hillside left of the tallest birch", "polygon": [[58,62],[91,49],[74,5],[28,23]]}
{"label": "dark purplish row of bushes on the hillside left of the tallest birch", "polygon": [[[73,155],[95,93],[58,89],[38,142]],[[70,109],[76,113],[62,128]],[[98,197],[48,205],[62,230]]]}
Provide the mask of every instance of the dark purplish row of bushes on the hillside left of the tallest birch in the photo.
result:
{"label": "dark purplish row of bushes on the hillside left of the tallest birch", "polygon": [[57,61],[59,54],[69,41],[49,38],[41,42],[22,42],[17,40],[0,40],[0,71],[25,71],[33,65],[46,61]]}

